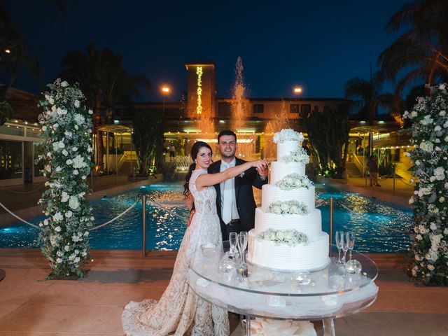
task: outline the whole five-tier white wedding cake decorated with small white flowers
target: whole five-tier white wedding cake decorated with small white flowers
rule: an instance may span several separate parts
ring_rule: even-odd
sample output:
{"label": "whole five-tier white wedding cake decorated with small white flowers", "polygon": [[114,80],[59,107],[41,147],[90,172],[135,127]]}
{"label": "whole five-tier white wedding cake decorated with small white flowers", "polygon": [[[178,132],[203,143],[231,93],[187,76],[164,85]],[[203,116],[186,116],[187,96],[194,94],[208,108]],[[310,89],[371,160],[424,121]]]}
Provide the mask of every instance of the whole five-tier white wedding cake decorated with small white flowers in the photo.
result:
{"label": "whole five-tier white wedding cake decorated with small white flowers", "polygon": [[328,264],[328,235],[322,232],[314,186],[305,175],[309,162],[302,133],[274,135],[277,161],[262,187],[255,228],[248,234],[248,261],[272,269],[320,269]]}

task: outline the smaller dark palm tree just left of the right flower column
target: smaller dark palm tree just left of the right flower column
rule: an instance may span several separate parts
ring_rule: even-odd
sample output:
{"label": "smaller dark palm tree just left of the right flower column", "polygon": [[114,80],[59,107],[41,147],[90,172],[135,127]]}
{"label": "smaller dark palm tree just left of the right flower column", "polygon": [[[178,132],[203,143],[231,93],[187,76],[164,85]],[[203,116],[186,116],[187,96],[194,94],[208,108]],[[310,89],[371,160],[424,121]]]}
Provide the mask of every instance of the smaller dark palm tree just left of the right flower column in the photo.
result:
{"label": "smaller dark palm tree just left of the right flower column", "polygon": [[402,125],[399,109],[393,106],[393,94],[381,94],[384,78],[381,72],[377,71],[370,76],[370,80],[354,77],[344,85],[346,99],[351,99],[358,107],[358,115],[369,120],[373,125],[373,120],[377,117],[379,106],[388,109],[388,112],[395,118],[395,121]]}

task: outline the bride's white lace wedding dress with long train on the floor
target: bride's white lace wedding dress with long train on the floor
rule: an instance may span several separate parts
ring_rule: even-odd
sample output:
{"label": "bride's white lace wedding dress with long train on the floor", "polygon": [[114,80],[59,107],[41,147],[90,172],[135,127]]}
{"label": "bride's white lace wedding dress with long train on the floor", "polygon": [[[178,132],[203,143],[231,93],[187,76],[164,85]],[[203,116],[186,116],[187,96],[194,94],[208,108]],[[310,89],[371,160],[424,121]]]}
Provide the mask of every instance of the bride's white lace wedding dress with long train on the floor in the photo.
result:
{"label": "bride's white lace wedding dress with long train on the floor", "polygon": [[187,276],[193,253],[202,244],[221,244],[221,228],[216,214],[216,190],[196,189],[196,179],[206,170],[193,171],[189,188],[195,197],[195,215],[183,236],[173,275],[160,300],[130,302],[122,315],[127,336],[228,336],[228,312],[197,297]]}

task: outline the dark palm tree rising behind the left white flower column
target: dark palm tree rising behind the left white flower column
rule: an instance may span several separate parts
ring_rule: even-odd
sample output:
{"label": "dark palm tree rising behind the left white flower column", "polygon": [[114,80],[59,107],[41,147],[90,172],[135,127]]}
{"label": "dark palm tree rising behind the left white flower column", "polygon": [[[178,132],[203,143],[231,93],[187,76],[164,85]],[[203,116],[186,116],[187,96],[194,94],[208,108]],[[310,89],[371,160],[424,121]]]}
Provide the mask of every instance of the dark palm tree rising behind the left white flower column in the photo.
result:
{"label": "dark palm tree rising behind the left white flower column", "polygon": [[[93,110],[94,134],[102,139],[98,128],[102,125],[101,106],[106,106],[109,122],[113,115],[113,105],[120,101],[129,102],[131,96],[139,94],[139,85],[150,87],[145,76],[129,76],[123,69],[123,57],[109,48],[98,50],[94,43],[87,44],[86,52],[73,50],[62,59],[60,76],[70,82],[78,82],[87,99],[87,105]],[[97,165],[103,166],[104,145],[97,141]]]}

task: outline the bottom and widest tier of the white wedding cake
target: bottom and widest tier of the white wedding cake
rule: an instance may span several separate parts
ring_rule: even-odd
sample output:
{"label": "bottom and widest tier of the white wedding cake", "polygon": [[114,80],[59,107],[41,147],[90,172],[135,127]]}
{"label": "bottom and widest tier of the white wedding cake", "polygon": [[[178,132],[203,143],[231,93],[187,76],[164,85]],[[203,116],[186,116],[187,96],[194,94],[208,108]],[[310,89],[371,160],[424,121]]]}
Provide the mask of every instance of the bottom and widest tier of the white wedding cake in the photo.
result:
{"label": "bottom and widest tier of the white wedding cake", "polygon": [[248,261],[271,269],[321,269],[328,264],[328,235],[310,239],[307,245],[276,245],[274,241],[255,238],[254,230],[248,234]]}

